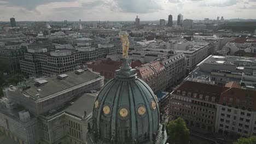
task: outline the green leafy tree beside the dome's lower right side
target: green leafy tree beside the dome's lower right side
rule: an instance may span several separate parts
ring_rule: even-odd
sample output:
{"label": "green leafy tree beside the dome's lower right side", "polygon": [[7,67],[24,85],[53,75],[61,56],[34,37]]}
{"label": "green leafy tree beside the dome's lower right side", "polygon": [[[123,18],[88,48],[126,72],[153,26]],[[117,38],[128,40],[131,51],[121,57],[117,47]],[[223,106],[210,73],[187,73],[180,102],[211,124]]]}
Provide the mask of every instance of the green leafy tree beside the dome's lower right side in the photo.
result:
{"label": "green leafy tree beside the dome's lower right side", "polygon": [[184,119],[177,118],[167,124],[167,134],[169,136],[168,142],[174,144],[189,143],[189,129],[187,128]]}

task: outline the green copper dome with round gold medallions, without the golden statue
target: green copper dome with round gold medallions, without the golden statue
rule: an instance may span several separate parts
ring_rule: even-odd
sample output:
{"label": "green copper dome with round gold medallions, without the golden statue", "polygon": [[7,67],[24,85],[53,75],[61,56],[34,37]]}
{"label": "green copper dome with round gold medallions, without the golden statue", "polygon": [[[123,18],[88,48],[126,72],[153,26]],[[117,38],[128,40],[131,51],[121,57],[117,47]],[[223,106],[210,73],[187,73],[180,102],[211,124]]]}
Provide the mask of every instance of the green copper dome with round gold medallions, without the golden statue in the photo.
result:
{"label": "green copper dome with round gold medallions, without the golden statue", "polygon": [[128,61],[124,59],[115,78],[106,83],[95,100],[90,130],[92,143],[164,141],[158,101],[147,83],[136,76],[136,70],[131,69]]}

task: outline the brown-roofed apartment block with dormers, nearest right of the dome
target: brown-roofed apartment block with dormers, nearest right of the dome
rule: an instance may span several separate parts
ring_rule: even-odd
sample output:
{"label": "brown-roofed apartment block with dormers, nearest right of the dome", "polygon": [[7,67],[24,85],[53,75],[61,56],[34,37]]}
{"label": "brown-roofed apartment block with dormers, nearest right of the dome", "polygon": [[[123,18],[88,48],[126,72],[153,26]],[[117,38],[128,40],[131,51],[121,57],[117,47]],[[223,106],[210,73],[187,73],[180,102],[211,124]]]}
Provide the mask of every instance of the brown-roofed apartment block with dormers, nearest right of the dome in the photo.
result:
{"label": "brown-roofed apartment block with dormers, nearest right of the dome", "polygon": [[170,115],[182,117],[188,127],[215,131],[217,105],[223,87],[186,81],[171,93]]}

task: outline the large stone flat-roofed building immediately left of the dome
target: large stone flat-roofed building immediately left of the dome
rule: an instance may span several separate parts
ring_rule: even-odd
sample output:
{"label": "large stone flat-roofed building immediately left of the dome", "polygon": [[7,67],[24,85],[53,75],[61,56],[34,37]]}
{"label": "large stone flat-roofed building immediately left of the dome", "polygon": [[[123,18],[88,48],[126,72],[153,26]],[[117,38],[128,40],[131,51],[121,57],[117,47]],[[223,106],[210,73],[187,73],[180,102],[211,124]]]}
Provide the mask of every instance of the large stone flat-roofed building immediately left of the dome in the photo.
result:
{"label": "large stone flat-roofed building immediately left of the dome", "polygon": [[0,130],[19,143],[86,143],[94,92],[103,85],[104,77],[80,69],[9,86],[0,99]]}

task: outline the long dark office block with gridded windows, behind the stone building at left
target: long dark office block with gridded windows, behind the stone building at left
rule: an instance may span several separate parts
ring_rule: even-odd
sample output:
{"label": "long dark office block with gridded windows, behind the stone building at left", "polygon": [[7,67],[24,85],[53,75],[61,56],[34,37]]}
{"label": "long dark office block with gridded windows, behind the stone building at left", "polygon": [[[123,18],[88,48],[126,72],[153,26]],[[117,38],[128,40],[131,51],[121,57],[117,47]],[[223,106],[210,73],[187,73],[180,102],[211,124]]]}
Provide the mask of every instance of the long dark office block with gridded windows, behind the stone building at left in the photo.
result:
{"label": "long dark office block with gridded windows, behind the stone building at left", "polygon": [[98,48],[80,46],[76,50],[28,49],[20,61],[21,72],[26,75],[59,75],[86,62],[102,59],[117,52],[113,44],[98,44]]}

